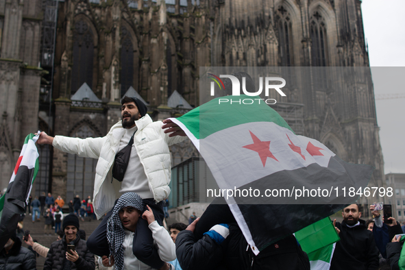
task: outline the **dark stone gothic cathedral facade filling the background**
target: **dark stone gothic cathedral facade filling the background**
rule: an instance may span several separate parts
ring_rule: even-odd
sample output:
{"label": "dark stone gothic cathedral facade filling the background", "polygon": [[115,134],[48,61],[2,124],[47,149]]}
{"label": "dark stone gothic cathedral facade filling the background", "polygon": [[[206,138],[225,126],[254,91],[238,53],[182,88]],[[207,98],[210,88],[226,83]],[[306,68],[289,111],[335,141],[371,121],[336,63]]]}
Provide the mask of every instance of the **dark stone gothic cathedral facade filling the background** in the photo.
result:
{"label": "dark stone gothic cathedral facade filling the background", "polygon": [[[367,70],[360,6],[360,0],[0,0],[0,187],[27,134],[103,136],[120,120],[127,91],[148,103],[154,120],[199,106],[199,66]],[[347,162],[376,167],[370,184],[384,186],[371,82],[294,91],[283,102],[302,107],[297,133]],[[197,155],[189,142],[171,150],[174,164]],[[35,195],[93,195],[95,160],[39,151]]]}

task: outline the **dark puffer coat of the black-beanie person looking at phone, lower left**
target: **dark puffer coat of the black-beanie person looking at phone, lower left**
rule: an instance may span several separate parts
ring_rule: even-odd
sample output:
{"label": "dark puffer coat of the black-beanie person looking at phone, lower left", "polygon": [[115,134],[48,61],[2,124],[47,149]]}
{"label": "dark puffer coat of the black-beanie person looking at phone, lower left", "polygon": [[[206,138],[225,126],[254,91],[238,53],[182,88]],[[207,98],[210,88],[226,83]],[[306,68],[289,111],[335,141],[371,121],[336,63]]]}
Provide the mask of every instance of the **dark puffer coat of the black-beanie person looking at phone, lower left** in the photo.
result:
{"label": "dark puffer coat of the black-beanie person looking at phone, lower left", "polygon": [[66,236],[63,236],[62,240],[55,241],[51,244],[47,259],[45,260],[44,270],[63,270],[66,269],[66,266],[68,267],[67,269],[69,269],[69,265],[71,265],[70,269],[94,270],[94,254],[87,249],[86,241],[76,235],[75,240],[70,244],[75,245],[75,250],[77,254],[79,254],[79,258],[75,262],[66,260],[67,243]]}

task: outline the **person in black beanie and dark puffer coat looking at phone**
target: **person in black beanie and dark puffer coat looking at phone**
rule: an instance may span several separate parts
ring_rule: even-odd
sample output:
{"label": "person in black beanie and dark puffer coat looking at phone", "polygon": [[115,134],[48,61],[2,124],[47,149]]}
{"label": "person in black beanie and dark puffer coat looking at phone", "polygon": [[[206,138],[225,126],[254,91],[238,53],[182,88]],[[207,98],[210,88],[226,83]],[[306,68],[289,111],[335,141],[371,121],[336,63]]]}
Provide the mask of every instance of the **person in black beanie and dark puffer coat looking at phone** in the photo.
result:
{"label": "person in black beanie and dark puffer coat looking at phone", "polygon": [[75,214],[68,214],[63,219],[64,236],[55,241],[49,248],[44,270],[78,269],[94,270],[94,254],[86,245],[86,241],[79,238],[79,218]]}

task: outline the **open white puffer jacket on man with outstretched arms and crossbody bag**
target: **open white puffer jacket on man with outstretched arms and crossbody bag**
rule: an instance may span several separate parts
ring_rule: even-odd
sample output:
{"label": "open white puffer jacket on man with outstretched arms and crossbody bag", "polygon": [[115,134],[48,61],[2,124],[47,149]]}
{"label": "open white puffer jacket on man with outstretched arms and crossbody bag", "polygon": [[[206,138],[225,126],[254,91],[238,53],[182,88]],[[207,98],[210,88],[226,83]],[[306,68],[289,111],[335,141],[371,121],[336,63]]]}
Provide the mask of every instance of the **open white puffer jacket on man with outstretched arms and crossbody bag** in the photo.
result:
{"label": "open white puffer jacket on man with outstretched arms and crossbody bag", "polygon": [[[180,143],[186,137],[169,137],[162,130],[162,121],[153,122],[149,114],[135,121],[138,130],[134,146],[143,164],[149,188],[156,202],[167,198],[170,193],[171,162],[169,145]],[[112,181],[112,164],[119,148],[119,141],[125,134],[121,121],[111,127],[110,132],[100,138],[71,138],[55,136],[53,147],[84,158],[98,158],[93,207],[97,219],[108,212],[121,194],[121,182]]]}

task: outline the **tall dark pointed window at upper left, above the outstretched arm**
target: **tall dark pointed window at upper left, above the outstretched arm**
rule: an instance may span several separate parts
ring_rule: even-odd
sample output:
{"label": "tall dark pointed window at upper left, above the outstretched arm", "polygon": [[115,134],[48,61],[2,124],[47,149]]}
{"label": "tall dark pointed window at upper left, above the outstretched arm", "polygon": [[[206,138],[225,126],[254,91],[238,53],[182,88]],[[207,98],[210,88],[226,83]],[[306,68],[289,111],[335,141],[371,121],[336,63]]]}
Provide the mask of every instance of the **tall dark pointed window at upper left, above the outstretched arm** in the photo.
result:
{"label": "tall dark pointed window at upper left, above the outstretched arm", "polygon": [[93,56],[93,32],[85,21],[77,21],[73,31],[71,95],[85,82],[93,88]]}

